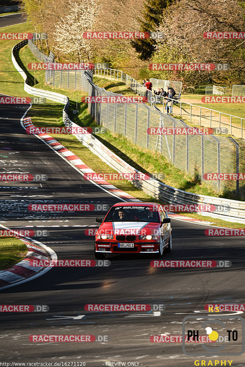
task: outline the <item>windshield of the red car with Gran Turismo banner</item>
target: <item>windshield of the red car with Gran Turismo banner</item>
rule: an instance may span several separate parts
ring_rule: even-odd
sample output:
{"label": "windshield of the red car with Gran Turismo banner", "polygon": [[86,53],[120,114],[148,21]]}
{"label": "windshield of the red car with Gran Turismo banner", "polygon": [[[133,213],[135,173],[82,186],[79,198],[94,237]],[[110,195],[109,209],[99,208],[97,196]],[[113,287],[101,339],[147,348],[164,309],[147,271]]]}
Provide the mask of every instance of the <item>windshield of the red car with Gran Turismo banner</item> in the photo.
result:
{"label": "windshield of the red car with Gran Turismo banner", "polygon": [[105,222],[154,222],[160,223],[158,210],[152,206],[112,207]]}

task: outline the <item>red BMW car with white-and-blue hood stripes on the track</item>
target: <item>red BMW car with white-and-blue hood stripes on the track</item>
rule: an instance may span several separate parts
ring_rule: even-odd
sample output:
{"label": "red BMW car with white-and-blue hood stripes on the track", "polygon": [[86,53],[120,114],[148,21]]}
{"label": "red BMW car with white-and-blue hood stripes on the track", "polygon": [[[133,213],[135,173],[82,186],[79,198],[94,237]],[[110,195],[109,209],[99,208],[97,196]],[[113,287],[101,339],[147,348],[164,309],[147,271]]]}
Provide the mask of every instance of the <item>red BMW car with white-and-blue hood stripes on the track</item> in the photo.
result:
{"label": "red BMW car with white-and-blue hood stripes on the track", "polygon": [[104,259],[106,254],[125,252],[162,257],[163,250],[172,249],[170,218],[157,203],[117,203],[105,216],[96,232],[94,256]]}

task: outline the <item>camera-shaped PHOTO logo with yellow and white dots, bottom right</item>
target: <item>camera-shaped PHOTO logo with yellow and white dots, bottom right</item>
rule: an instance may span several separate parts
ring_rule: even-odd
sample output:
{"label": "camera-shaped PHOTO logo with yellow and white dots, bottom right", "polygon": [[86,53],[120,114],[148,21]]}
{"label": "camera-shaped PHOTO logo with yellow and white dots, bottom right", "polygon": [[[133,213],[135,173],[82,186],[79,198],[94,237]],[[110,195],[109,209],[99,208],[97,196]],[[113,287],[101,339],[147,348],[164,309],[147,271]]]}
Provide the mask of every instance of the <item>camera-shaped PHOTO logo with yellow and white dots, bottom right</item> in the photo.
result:
{"label": "camera-shaped PHOTO logo with yellow and white dots, bottom right", "polygon": [[[193,338],[198,342],[199,335],[205,331],[213,344],[202,343],[193,348],[185,342],[186,336],[187,340]],[[182,322],[182,337],[183,353],[187,356],[239,356],[245,349],[244,319],[237,315],[186,316]]]}

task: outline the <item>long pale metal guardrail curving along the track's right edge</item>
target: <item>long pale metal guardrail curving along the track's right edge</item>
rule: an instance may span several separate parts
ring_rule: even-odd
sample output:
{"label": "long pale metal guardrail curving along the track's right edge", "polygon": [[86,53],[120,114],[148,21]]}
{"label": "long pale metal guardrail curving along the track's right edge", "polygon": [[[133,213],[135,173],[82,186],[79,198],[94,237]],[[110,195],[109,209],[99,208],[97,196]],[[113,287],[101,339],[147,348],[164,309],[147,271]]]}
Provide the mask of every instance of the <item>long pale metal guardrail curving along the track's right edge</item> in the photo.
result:
{"label": "long pale metal guardrail curving along the track's right edge", "polygon": [[[20,68],[17,61],[15,60],[15,52],[24,46],[27,43],[27,40],[21,41],[17,45],[15,45],[12,49],[12,61],[14,63],[15,68],[21,73],[25,86],[24,89],[29,94],[46,97],[53,101],[61,102],[65,104],[63,109],[63,122],[66,126],[76,126],[77,124],[73,123],[68,114],[66,113],[69,108],[69,98],[65,95],[54,93],[50,91],[44,91],[42,89],[37,89],[28,86],[27,84],[27,75],[24,70]],[[85,76],[86,77],[86,76]],[[87,77],[89,80],[89,78]],[[111,150],[109,150],[104,144],[102,144],[96,137],[91,134],[74,134],[74,136],[81,141],[87,148],[91,150],[95,155],[100,157],[104,162],[106,162],[110,167],[114,168],[116,171],[121,173],[126,172],[140,172],[135,168],[129,166],[125,161],[123,161],[120,157],[115,155]],[[151,196],[154,196],[156,199],[161,200],[167,204],[214,204],[214,205],[230,205],[230,211],[226,213],[222,212],[200,212],[200,214],[204,216],[210,216],[213,218],[220,218],[230,222],[238,222],[245,224],[245,202],[237,201],[237,200],[227,200],[219,197],[213,196],[205,196],[198,195],[195,193],[186,192],[180,189],[173,188],[171,186],[165,185],[165,183],[159,182],[157,180],[151,181],[131,181],[134,186],[144,190],[144,192],[148,193]]]}

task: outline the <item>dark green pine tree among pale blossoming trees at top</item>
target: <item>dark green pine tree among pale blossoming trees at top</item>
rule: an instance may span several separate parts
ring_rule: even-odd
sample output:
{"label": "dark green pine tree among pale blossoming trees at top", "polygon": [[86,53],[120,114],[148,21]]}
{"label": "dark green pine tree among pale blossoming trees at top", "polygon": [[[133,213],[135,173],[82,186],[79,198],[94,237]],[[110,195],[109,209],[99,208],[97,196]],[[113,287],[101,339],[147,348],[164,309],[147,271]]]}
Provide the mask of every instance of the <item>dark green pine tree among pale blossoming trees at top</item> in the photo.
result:
{"label": "dark green pine tree among pale blossoming trees at top", "polygon": [[[171,0],[148,0],[144,3],[143,19],[138,18],[140,22],[140,32],[154,32],[162,21],[163,11],[169,6]],[[154,39],[136,39],[131,42],[135,50],[140,54],[141,60],[151,58],[156,41]]]}

